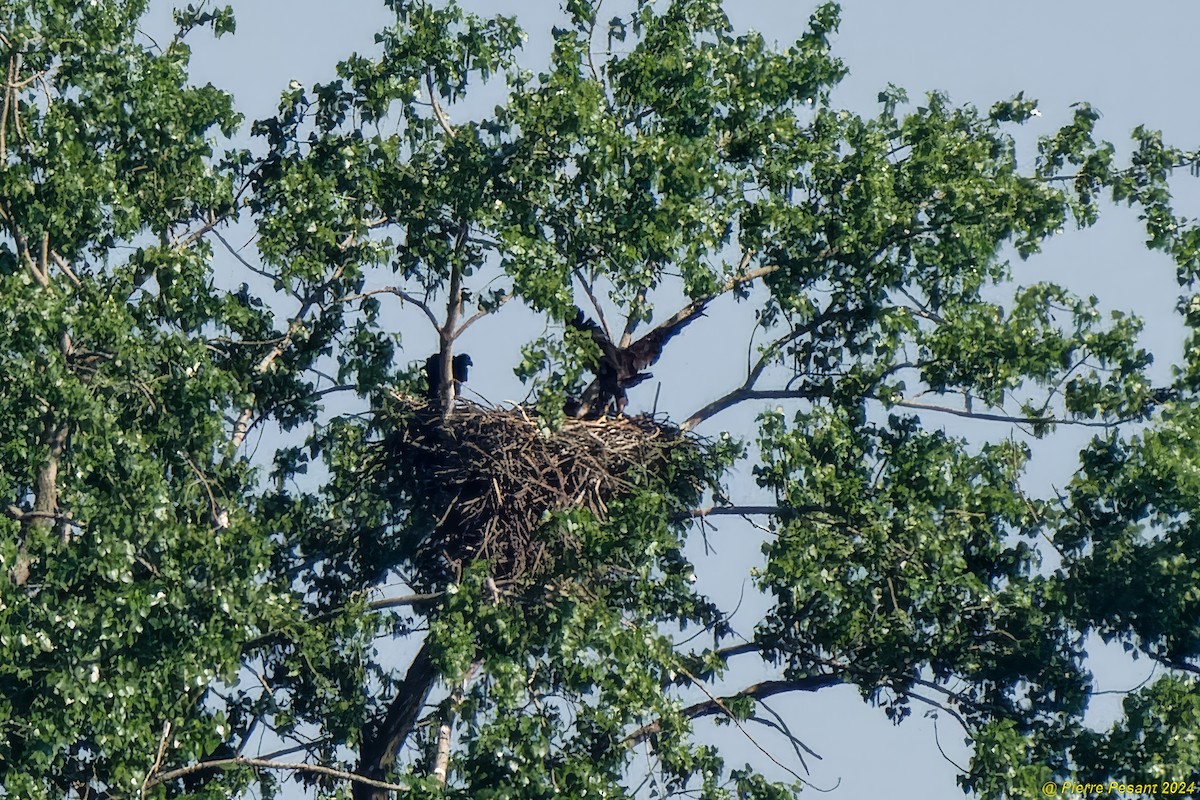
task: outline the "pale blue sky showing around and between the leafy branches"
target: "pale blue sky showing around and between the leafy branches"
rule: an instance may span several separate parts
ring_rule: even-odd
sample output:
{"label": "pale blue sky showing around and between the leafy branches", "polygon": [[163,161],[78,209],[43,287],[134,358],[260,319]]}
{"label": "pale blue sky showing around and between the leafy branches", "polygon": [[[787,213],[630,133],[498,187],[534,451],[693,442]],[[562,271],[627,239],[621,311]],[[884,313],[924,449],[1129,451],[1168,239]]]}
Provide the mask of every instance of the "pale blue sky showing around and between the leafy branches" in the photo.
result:
{"label": "pale blue sky showing around and between the leafy branches", "polygon": [[[464,5],[518,14],[530,34],[528,50],[534,59],[545,52],[544,37],[558,17],[558,4],[553,1]],[[727,7],[737,26],[764,31],[768,38],[786,46],[802,32],[814,5],[751,0],[730,2]],[[211,80],[232,90],[251,119],[270,114],[289,80],[305,85],[328,80],[334,65],[350,52],[370,52],[373,32],[389,19],[382,1],[368,0],[252,0],[235,5],[235,10],[236,36],[220,42],[197,37],[193,42],[194,74],[202,83]],[[1129,131],[1139,124],[1162,128],[1169,142],[1194,145],[1200,140],[1200,110],[1194,98],[1195,86],[1200,85],[1200,59],[1194,55],[1196,30],[1200,4],[1182,0],[848,0],[835,52],[851,72],[835,92],[834,104],[871,113],[877,92],[888,83],[905,88],[913,101],[929,90],[942,90],[955,102],[980,107],[1024,91],[1040,100],[1043,112],[1027,128],[1025,152],[1030,152],[1036,136],[1067,121],[1070,104],[1079,101],[1088,101],[1103,113],[1100,133],[1118,149],[1124,149]],[[1181,179],[1181,190],[1192,209],[1200,207],[1200,180]],[[1068,233],[1051,242],[1044,254],[1016,264],[1016,281],[1055,279],[1076,293],[1099,295],[1109,307],[1139,311],[1147,318],[1147,345],[1156,351],[1177,353],[1178,326],[1170,313],[1177,287],[1171,266],[1164,257],[1147,253],[1142,239],[1133,215],[1114,210],[1096,229]],[[494,342],[502,331],[506,332],[503,325],[498,323],[481,339],[491,337]],[[695,335],[689,332],[690,349],[655,369],[666,381],[673,377],[682,380],[686,367],[700,361],[744,360],[745,341],[726,336],[716,324],[697,324],[695,329]],[[535,332],[536,327],[529,331]],[[488,347],[484,341],[468,341],[467,345],[478,348],[476,353]],[[424,359],[427,351],[414,347],[410,357]],[[481,361],[478,355],[475,360]],[[511,366],[486,367],[476,373],[473,384],[494,401],[515,396],[521,390],[509,372]],[[1165,365],[1160,368],[1165,378]],[[704,393],[704,386],[689,386],[688,392]],[[703,401],[685,396],[665,402],[670,410],[684,413]],[[751,417],[752,413],[718,417],[706,432],[745,429]],[[946,421],[948,429],[962,433],[955,425]],[[1003,438],[1008,431],[977,427],[970,433]],[[1072,444],[1086,438],[1076,437]],[[1072,465],[1066,447],[1057,457],[1049,456],[1036,474],[1046,487],[1051,482],[1061,485]],[[750,491],[748,481],[736,482],[734,487]],[[726,522],[712,540],[720,558],[700,564],[697,571],[714,582],[719,599],[736,602],[748,587],[750,566],[760,558],[757,534],[744,523]],[[749,631],[755,606],[752,597],[746,600],[734,625]],[[1133,686],[1146,674],[1140,664],[1130,668],[1109,654],[1098,663],[1102,690]],[[766,672],[743,670],[730,687],[766,676]],[[955,768],[938,752],[935,723],[922,718],[920,709],[913,720],[893,727],[850,687],[791,698],[776,708],[823,757],[821,762],[809,759],[810,780],[820,788],[836,786],[832,796],[962,796],[954,781]],[[1110,712],[1111,704],[1108,710],[1099,704],[1097,718]],[[961,732],[944,716],[936,724],[941,747],[950,758],[965,763]],[[739,736],[732,728],[721,728],[715,735],[731,742],[731,760],[757,758],[752,746],[737,741]],[[776,758],[792,763],[784,745],[776,742],[770,750]]]}

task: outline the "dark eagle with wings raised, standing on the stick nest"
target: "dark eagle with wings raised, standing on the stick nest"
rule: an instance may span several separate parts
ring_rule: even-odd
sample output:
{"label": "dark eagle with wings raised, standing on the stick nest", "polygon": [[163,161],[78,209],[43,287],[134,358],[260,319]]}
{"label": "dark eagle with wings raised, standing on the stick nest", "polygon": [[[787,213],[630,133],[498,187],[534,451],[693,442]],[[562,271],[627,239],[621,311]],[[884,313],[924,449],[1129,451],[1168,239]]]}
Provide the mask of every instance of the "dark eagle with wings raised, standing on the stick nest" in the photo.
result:
{"label": "dark eagle with wings raised, standing on the stick nest", "polygon": [[568,325],[592,335],[592,341],[600,347],[600,359],[593,366],[595,380],[583,391],[583,396],[568,399],[564,407],[566,415],[596,419],[607,414],[610,408],[614,408],[618,415],[623,414],[629,403],[625,390],[653,378],[643,369],[659,360],[662,347],[671,337],[703,313],[704,303],[692,303],[636,342],[618,347],[604,327],[576,308],[575,318],[568,320]]}

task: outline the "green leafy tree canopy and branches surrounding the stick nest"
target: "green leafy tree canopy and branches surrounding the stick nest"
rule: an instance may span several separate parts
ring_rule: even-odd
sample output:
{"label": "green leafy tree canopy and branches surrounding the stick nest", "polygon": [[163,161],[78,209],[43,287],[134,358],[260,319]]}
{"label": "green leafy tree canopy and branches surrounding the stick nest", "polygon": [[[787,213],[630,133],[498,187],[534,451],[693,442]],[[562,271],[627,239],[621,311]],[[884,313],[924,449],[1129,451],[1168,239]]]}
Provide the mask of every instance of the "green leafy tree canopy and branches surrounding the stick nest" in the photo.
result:
{"label": "green leafy tree canopy and branches surrounding the stick nest", "polygon": [[[1200,778],[1195,152],[1139,127],[1118,157],[1080,104],[1019,157],[1024,96],[839,109],[835,4],[778,46],[718,0],[565,0],[546,64],[516,19],[385,5],[248,121],[188,78],[229,8],[156,41],[148,0],[0,2],[7,796],[784,798],[820,774],[773,698],[838,685],[953,720],[976,796]],[[1166,383],[1138,317],[1013,277],[1114,206],[1177,271]],[[431,531],[473,498],[380,456],[437,393],[401,329],[442,375],[504,341],[511,415],[557,441],[601,355],[580,309],[611,348],[704,314],[664,359],[706,324],[751,357],[659,420],[686,446],[545,510],[536,579],[449,564]],[[541,335],[505,339],[521,314]],[[1070,482],[1030,480],[1076,427]],[[752,625],[694,564],[739,516]],[[1097,637],[1159,667],[1104,728]]]}

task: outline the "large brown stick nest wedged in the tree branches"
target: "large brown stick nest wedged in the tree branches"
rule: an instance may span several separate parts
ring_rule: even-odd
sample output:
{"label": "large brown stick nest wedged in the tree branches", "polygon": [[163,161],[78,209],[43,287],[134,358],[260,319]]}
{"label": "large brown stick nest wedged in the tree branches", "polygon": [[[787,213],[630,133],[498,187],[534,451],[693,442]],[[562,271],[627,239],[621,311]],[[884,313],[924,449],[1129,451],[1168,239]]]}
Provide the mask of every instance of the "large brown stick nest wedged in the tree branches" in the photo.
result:
{"label": "large brown stick nest wedged in the tree branches", "polygon": [[392,401],[377,419],[374,474],[397,507],[432,523],[418,566],[434,575],[478,559],[496,578],[536,575],[572,545],[539,535],[554,512],[582,507],[602,519],[613,498],[660,482],[680,449],[697,452],[695,439],[649,416],[569,420],[550,432],[521,407],[460,399],[444,420],[437,403]]}

